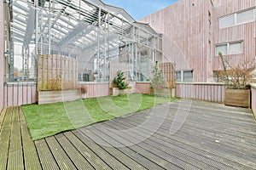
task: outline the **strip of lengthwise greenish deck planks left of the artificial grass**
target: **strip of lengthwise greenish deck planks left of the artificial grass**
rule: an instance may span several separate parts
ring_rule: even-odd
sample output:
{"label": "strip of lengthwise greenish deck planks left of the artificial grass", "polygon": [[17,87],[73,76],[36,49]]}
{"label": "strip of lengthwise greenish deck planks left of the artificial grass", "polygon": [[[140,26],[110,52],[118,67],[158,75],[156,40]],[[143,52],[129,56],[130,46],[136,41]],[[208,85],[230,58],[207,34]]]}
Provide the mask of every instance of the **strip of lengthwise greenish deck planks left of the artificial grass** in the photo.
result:
{"label": "strip of lengthwise greenish deck planks left of the artificial grass", "polygon": [[21,108],[5,108],[0,125],[0,169],[42,169]]}

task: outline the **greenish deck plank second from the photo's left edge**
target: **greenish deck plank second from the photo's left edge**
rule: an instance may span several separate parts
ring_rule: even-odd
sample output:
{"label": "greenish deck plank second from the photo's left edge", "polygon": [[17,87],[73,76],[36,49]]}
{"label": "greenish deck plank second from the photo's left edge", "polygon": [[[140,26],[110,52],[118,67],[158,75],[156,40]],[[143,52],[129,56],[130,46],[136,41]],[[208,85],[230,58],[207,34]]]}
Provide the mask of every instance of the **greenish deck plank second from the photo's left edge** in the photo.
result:
{"label": "greenish deck plank second from the photo's left edge", "polygon": [[19,107],[14,107],[7,169],[24,169],[19,112]]}

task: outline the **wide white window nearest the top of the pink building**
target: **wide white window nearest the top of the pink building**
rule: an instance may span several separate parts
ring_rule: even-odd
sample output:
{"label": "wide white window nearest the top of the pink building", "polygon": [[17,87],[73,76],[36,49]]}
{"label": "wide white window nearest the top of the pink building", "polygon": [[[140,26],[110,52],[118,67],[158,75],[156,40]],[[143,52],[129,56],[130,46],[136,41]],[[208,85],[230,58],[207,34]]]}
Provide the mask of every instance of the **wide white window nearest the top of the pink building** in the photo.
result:
{"label": "wide white window nearest the top of the pink building", "polygon": [[229,14],[218,19],[219,29],[237,26],[256,20],[256,8],[247,9],[247,11],[235,14]]}

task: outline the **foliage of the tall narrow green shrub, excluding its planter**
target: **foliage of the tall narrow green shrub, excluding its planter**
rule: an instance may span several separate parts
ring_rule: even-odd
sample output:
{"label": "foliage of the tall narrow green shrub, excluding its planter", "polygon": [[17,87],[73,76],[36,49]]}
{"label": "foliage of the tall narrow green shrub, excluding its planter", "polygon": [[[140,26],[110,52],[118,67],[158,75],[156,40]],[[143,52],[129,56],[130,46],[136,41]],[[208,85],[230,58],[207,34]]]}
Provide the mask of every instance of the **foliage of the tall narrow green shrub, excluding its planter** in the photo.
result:
{"label": "foliage of the tall narrow green shrub, excluding its planter", "polygon": [[163,76],[163,71],[158,68],[157,61],[154,65],[153,78],[150,80],[150,86],[152,88],[165,88],[166,80]]}

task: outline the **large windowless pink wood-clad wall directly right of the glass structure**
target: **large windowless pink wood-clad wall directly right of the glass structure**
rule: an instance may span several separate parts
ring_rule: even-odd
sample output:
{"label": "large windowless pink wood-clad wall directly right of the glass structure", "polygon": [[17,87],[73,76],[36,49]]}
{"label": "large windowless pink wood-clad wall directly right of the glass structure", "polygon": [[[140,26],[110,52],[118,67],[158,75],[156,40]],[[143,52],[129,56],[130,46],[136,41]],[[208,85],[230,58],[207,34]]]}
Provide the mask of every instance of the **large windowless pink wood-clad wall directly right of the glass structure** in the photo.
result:
{"label": "large windowless pink wood-clad wall directly right of the glass structure", "polygon": [[213,20],[209,34],[209,12],[214,17],[210,0],[180,0],[141,20],[164,33],[163,60],[175,62],[177,71],[193,70],[194,82],[212,82],[214,38]]}

